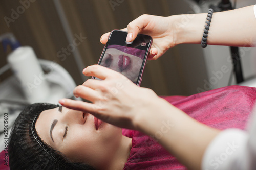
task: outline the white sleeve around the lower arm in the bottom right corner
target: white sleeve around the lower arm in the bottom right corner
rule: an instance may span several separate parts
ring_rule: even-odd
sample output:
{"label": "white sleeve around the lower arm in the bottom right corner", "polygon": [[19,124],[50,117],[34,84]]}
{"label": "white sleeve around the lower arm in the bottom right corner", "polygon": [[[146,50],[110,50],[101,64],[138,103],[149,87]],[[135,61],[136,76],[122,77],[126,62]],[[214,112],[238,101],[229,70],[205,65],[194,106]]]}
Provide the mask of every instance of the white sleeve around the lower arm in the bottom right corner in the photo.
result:
{"label": "white sleeve around the lower arm in the bottom right corner", "polygon": [[253,116],[248,132],[227,129],[211,141],[203,156],[203,170],[256,169],[256,112]]}

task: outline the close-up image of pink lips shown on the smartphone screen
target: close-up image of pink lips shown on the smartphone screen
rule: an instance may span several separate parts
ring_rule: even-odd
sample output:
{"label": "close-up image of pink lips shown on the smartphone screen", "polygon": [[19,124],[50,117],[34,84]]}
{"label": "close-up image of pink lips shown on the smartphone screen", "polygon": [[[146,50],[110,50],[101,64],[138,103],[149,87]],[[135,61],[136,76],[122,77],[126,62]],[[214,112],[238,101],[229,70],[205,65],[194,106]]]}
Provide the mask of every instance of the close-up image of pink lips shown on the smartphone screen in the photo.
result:
{"label": "close-up image of pink lips shown on the smartphone screen", "polygon": [[[134,48],[129,49],[127,47],[124,48],[124,50],[118,50],[116,48],[108,48],[105,51],[105,54],[103,56],[103,59],[100,65],[104,67],[108,67],[115,71],[121,72],[124,76],[129,78],[132,82],[136,82],[139,76],[140,67],[142,65],[143,60],[140,58],[140,56],[132,55],[134,53],[131,51],[137,51],[136,54],[138,54],[138,51],[142,51],[142,50],[138,50]],[[142,53],[139,53],[139,54],[142,54]]]}

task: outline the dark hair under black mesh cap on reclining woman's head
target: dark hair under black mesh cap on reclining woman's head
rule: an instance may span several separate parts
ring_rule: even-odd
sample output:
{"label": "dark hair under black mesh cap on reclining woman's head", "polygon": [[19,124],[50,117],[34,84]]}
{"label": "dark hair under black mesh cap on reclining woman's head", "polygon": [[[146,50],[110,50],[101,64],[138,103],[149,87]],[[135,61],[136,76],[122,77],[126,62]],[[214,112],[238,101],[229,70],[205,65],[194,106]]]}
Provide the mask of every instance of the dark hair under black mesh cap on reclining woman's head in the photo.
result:
{"label": "dark hair under black mesh cap on reclining woman's head", "polygon": [[58,105],[35,103],[18,115],[9,137],[10,169],[94,169],[83,163],[70,162],[37,134],[35,123],[40,113],[56,107]]}

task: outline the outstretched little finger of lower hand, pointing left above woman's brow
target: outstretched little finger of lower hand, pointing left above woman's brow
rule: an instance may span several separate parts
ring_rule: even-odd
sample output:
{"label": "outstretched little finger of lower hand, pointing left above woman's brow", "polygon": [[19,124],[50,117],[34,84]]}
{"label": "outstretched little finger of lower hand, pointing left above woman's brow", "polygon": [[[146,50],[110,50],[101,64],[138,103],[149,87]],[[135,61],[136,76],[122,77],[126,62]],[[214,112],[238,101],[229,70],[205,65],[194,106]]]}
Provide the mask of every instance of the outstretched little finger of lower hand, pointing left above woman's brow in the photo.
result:
{"label": "outstretched little finger of lower hand, pointing left above woman's brow", "polygon": [[93,103],[75,101],[71,99],[60,99],[59,103],[62,106],[67,107],[69,109],[80,110],[80,111],[91,113],[93,115],[97,114],[98,111],[101,109],[100,106],[97,106]]}

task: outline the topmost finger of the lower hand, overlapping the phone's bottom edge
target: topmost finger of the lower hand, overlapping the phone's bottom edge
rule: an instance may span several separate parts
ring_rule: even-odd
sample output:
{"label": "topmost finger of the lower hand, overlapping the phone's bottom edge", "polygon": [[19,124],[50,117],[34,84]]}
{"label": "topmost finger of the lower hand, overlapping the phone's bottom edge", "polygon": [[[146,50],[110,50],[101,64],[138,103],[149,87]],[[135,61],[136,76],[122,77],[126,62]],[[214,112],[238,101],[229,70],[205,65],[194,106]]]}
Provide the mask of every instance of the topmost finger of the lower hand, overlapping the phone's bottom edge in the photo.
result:
{"label": "topmost finger of the lower hand, overlapping the phone's bottom edge", "polygon": [[95,76],[99,79],[106,79],[107,77],[121,76],[119,72],[116,72],[110,68],[103,67],[101,65],[91,65],[83,70],[83,74],[86,76]]}

